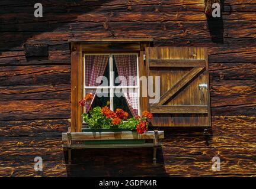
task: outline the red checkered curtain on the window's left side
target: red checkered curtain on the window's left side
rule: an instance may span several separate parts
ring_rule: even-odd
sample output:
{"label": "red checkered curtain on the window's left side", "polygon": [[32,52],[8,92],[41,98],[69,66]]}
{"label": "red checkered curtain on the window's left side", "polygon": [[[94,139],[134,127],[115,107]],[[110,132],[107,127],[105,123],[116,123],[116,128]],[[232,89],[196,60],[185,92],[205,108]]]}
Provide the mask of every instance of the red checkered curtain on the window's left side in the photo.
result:
{"label": "red checkered curtain on the window's left side", "polygon": [[[108,55],[85,55],[85,86],[99,86],[100,83],[97,83],[98,79],[102,79],[105,68],[108,63]],[[85,91],[87,93],[87,91]],[[96,93],[95,90],[91,90],[93,99],[91,103],[86,103],[85,105],[85,112],[87,113],[89,108],[92,105],[92,102],[95,99]]]}

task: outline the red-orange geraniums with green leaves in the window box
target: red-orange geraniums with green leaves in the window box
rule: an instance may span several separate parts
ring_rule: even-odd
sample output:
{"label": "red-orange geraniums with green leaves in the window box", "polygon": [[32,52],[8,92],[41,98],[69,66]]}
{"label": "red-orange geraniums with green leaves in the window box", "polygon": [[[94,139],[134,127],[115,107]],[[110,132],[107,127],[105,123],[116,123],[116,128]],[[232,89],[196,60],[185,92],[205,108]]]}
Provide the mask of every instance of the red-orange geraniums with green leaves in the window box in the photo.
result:
{"label": "red-orange geraniums with green leaves in the window box", "polygon": [[[79,105],[85,106],[92,100],[92,95],[85,95],[85,99],[79,101]],[[104,107],[90,108],[88,113],[83,113],[82,118],[87,123],[87,128],[82,129],[82,132],[120,132],[120,131],[133,131],[143,134],[148,131],[149,120],[152,119],[152,113],[148,111],[142,112],[142,116],[136,115],[133,118],[128,118],[129,113],[123,109],[117,108],[115,111],[109,107],[110,103]],[[88,141],[89,142],[89,141]],[[114,140],[114,141],[101,141],[101,143],[141,143],[145,139],[136,140]],[[95,142],[93,142],[95,144]]]}

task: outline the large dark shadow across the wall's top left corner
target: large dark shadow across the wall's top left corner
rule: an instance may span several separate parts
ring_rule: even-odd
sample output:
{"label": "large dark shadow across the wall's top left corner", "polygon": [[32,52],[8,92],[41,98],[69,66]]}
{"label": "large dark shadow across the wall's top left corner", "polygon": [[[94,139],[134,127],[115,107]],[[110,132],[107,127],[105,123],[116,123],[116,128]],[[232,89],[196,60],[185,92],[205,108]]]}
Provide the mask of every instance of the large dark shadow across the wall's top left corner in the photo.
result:
{"label": "large dark shadow across the wall's top left corner", "polygon": [[[23,50],[25,43],[45,43],[46,37],[40,39],[40,34],[44,32],[62,31],[69,32],[71,25],[79,15],[88,12],[95,12],[101,5],[107,4],[111,0],[102,1],[48,1],[41,0],[43,5],[43,18],[35,18],[35,0],[1,1],[0,12],[0,54],[4,51]],[[62,27],[66,25],[65,27]],[[101,24],[102,25],[102,24]],[[33,36],[39,37],[30,39]],[[53,34],[52,34],[53,35]],[[70,34],[70,37],[74,37]],[[60,37],[61,38],[61,37]],[[36,40],[36,41],[35,41]]]}

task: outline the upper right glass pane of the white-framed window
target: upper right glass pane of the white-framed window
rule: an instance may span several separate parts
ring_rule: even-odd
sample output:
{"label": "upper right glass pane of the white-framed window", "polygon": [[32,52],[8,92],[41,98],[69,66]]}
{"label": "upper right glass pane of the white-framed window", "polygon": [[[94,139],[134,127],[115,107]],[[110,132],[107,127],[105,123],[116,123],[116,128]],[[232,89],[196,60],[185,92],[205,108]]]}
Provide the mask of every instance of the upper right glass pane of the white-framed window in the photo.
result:
{"label": "upper right glass pane of the white-framed window", "polygon": [[114,85],[137,86],[137,55],[114,54]]}

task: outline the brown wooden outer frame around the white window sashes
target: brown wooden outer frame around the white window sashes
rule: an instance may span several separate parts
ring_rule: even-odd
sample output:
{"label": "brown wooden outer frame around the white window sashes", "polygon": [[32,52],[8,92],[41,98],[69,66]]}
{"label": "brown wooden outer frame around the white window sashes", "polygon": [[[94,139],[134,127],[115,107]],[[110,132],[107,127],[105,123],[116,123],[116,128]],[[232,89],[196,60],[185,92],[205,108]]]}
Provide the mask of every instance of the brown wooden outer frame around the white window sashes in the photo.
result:
{"label": "brown wooden outer frame around the white window sashes", "polygon": [[[140,66],[146,66],[145,47],[149,47],[152,38],[129,39],[72,39],[71,43],[71,128],[70,132],[82,132],[83,109],[78,102],[84,93],[84,54],[92,53],[137,53]],[[146,76],[145,67],[139,66],[139,77]],[[141,87],[139,93],[141,93]],[[145,100],[140,96],[140,112],[146,108]]]}

